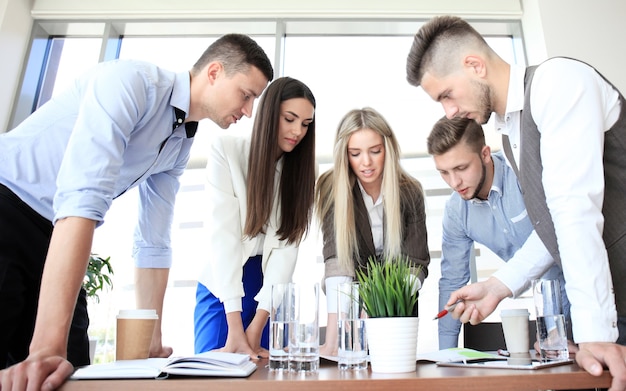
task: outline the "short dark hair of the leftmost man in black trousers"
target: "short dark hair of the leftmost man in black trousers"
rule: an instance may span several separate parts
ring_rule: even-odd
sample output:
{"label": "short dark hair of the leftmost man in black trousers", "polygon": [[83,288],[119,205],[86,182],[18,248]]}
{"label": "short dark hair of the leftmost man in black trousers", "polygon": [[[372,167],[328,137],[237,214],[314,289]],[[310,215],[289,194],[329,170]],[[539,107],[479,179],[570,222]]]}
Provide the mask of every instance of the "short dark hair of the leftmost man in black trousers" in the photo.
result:
{"label": "short dark hair of the leftmost man in black trousers", "polygon": [[252,65],[258,68],[268,81],[274,79],[274,69],[267,54],[247,35],[226,34],[218,38],[193,65],[192,74],[198,74],[211,61],[221,62],[227,75],[245,73]]}

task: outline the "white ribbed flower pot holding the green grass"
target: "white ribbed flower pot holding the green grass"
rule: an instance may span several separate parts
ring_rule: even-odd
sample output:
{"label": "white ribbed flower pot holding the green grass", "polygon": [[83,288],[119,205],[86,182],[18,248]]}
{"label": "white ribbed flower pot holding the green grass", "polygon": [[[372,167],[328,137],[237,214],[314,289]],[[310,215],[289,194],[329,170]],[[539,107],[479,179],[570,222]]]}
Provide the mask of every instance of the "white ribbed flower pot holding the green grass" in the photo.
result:
{"label": "white ribbed flower pot holding the green grass", "polygon": [[415,371],[418,322],[417,317],[365,320],[372,372]]}

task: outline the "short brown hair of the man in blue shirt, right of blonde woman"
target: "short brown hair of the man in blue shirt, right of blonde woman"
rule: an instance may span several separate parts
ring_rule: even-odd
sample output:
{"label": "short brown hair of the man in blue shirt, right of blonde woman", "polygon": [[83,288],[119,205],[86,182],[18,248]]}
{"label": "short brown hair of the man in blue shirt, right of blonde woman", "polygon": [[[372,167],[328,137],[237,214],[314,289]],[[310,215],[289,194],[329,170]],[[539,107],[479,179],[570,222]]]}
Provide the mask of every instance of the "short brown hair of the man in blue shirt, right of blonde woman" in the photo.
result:
{"label": "short brown hair of the man in blue shirt, right of blonde woman", "polygon": [[474,152],[480,153],[486,145],[483,127],[468,118],[443,117],[433,126],[433,130],[426,139],[426,146],[429,154],[442,155],[461,142]]}

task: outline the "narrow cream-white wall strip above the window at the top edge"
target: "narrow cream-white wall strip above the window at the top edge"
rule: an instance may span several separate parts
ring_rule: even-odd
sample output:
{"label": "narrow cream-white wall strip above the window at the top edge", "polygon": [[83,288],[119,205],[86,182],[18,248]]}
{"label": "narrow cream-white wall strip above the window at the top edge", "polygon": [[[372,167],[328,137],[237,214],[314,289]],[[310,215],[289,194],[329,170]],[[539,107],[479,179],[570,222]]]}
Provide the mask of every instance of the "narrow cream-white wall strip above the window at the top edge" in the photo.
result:
{"label": "narrow cream-white wall strip above the window at the top edge", "polygon": [[517,17],[520,0],[35,0],[37,18],[276,18],[429,17],[440,13],[482,18]]}

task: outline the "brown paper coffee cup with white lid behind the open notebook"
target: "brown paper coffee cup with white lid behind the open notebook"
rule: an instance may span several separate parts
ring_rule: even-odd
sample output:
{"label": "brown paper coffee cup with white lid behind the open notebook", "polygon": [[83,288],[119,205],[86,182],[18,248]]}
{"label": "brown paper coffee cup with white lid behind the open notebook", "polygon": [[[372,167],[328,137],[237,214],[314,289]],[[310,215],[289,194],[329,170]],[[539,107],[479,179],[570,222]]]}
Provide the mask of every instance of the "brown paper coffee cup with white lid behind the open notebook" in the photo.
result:
{"label": "brown paper coffee cup with white lid behind the open notebook", "polygon": [[117,315],[116,360],[148,358],[156,310],[120,310]]}

